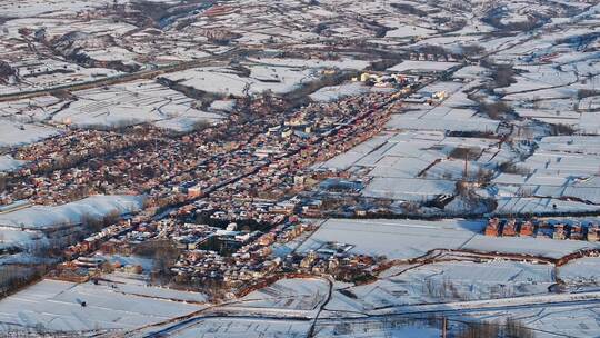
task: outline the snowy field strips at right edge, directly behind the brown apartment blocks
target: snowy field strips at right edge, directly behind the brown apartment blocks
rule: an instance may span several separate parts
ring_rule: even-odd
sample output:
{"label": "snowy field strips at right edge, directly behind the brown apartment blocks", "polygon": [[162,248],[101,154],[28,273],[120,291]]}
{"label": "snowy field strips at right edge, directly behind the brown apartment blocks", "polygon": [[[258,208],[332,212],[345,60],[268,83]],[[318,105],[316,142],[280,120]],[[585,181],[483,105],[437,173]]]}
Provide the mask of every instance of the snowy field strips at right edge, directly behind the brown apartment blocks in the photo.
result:
{"label": "snowy field strips at right edge, directly behind the brown apartment blocks", "polygon": [[546,137],[517,166],[523,173],[501,173],[499,213],[596,211],[600,208],[600,140],[591,136]]}

